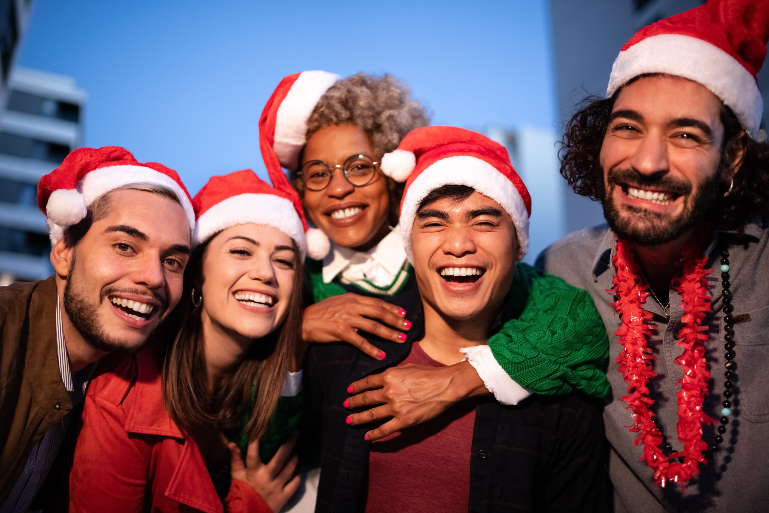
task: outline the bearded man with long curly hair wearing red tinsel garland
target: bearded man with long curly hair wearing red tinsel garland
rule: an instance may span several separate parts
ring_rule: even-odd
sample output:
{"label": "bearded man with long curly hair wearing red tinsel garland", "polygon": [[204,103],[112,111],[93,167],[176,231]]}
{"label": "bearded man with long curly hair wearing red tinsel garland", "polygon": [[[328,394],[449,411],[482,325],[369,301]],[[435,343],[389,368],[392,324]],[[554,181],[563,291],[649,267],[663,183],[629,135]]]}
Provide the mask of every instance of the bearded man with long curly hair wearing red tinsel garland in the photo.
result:
{"label": "bearded man with long curly hair wearing red tinsel garland", "polygon": [[757,465],[769,458],[769,144],[755,78],[767,37],[769,4],[752,0],[641,28],[608,97],[584,100],[566,128],[561,175],[608,225],[567,235],[538,265],[590,291],[621,346],[604,409],[615,511],[769,501]]}

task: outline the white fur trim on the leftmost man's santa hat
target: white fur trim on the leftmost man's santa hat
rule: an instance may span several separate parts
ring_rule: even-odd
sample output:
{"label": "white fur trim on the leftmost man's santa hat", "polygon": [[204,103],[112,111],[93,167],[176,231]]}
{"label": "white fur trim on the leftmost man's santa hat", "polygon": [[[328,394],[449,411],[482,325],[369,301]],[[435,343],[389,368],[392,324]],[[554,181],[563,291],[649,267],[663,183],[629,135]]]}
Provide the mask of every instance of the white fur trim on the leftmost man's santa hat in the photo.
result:
{"label": "white fur trim on the leftmost man's santa hat", "polygon": [[[112,165],[107,168],[95,169],[89,172],[85,177],[78,182],[77,190],[80,192],[82,200],[85,201],[86,206],[90,206],[97,198],[110,192],[116,188],[121,188],[129,185],[160,185],[162,187],[170,189],[181,203],[181,207],[185,209],[187,215],[187,221],[189,222],[190,229],[195,228],[195,211],[192,208],[192,203],[188,198],[188,195],[182,190],[181,186],[173,178],[168,175],[164,175],[155,169],[147,168],[143,165]],[[57,195],[57,192],[62,192],[65,189],[58,189],[51,193],[51,198],[69,198],[75,204],[78,199],[75,195],[69,194],[67,196]],[[58,199],[54,201],[54,212],[58,215],[61,212],[61,208],[58,205]],[[56,244],[59,239],[64,235],[64,228],[72,226],[72,224],[62,225],[56,221],[55,218],[51,218],[48,214],[48,208],[51,205],[51,199],[48,199],[48,205],[46,205],[46,216],[50,219],[48,223],[48,234],[51,236],[52,244]],[[83,215],[85,217],[85,215]],[[82,219],[82,218],[81,218]],[[52,229],[52,226],[58,227],[58,229]]]}

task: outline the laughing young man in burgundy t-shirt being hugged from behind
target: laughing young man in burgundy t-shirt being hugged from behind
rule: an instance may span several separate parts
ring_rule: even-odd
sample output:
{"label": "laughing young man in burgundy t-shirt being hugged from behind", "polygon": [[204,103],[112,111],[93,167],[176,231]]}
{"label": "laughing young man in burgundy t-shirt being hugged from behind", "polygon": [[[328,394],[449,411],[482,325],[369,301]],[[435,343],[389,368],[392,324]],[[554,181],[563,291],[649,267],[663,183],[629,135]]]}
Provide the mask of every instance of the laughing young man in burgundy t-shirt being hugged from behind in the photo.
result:
{"label": "laughing young man in burgundy t-shirt being hugged from behind", "polygon": [[[350,345],[310,348],[306,389],[323,435],[316,511],[605,511],[601,407],[581,395],[505,406],[481,384],[431,420],[378,441],[361,425],[392,417],[386,392],[366,380],[397,381],[396,367],[448,368],[511,319],[542,335],[594,311],[586,292],[516,265],[531,200],[504,148],[440,126],[411,132],[401,148],[415,158],[400,221],[418,288],[393,301],[409,308],[414,325],[383,361]],[[573,292],[568,304],[541,301],[564,290]],[[523,345],[508,349],[521,351],[511,356],[518,361],[531,356]],[[596,361],[604,354],[597,348]],[[348,385],[365,376],[364,388],[375,389],[348,398]],[[372,404],[381,406],[358,408]]]}

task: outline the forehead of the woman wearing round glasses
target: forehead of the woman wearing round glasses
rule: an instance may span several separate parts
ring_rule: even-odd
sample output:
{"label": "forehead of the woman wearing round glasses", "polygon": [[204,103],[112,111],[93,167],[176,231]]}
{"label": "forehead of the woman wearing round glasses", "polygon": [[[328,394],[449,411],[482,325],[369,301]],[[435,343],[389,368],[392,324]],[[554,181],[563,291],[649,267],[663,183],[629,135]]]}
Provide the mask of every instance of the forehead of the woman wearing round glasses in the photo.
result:
{"label": "forehead of the woman wearing round glasses", "polygon": [[355,125],[328,125],[313,134],[305,146],[304,162],[323,160],[343,164],[355,153],[371,155],[371,142],[366,132]]}

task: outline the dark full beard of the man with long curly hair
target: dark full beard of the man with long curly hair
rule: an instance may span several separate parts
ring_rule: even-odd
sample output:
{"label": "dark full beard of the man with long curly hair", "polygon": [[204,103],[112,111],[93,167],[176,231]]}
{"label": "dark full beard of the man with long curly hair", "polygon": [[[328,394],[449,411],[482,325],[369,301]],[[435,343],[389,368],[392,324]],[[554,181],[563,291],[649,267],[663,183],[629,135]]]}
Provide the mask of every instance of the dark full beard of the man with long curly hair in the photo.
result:
{"label": "dark full beard of the man with long curly hair", "polygon": [[[631,169],[610,169],[607,175],[607,187],[601,198],[604,218],[612,232],[619,238],[640,246],[657,246],[684,235],[691,228],[713,219],[720,212],[718,194],[718,171],[705,178],[698,186],[697,193],[691,195],[690,182],[677,180],[664,175],[642,175]],[[684,208],[681,214],[673,217],[669,214],[647,210],[646,208],[626,205],[627,213],[623,216],[614,205],[614,186],[619,184],[644,185],[662,188],[684,196]]]}

